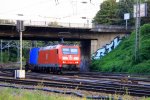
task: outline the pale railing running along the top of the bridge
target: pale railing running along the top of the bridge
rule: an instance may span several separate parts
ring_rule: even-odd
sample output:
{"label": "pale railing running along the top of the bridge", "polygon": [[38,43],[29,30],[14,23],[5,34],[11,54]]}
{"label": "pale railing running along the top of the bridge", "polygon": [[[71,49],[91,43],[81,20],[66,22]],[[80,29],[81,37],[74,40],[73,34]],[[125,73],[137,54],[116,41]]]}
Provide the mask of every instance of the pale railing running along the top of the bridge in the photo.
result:
{"label": "pale railing running along the top of the bridge", "polygon": [[[3,20],[0,19],[0,25],[16,25],[16,20]],[[92,24],[88,23],[65,23],[65,22],[52,22],[52,21],[31,21],[24,20],[25,26],[39,26],[39,27],[69,27],[69,28],[92,28]]]}

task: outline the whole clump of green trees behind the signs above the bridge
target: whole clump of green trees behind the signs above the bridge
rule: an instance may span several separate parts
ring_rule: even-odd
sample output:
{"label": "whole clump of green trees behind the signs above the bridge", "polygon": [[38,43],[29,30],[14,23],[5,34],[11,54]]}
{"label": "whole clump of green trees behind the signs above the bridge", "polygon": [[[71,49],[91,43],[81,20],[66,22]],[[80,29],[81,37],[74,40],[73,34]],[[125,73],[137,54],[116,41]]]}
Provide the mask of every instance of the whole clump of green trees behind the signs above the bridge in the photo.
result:
{"label": "whole clump of green trees behind the signs above the bridge", "polygon": [[[150,23],[150,0],[141,0],[141,3],[147,3],[147,17],[141,18],[141,25]],[[136,4],[136,0],[106,0],[100,5],[100,10],[94,17],[93,23],[95,24],[107,24],[107,25],[125,25],[124,13],[130,13],[130,19],[128,25],[133,26],[135,24],[135,18],[133,17],[133,5]]]}

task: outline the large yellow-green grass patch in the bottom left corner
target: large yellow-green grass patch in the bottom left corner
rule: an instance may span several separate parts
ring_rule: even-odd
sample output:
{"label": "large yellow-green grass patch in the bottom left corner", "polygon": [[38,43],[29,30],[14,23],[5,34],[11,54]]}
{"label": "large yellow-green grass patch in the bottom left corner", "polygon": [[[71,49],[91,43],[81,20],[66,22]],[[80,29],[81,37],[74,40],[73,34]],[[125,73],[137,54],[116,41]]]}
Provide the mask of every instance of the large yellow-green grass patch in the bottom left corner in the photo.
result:
{"label": "large yellow-green grass patch in the bottom left corner", "polygon": [[0,100],[84,100],[84,98],[36,90],[1,88]]}

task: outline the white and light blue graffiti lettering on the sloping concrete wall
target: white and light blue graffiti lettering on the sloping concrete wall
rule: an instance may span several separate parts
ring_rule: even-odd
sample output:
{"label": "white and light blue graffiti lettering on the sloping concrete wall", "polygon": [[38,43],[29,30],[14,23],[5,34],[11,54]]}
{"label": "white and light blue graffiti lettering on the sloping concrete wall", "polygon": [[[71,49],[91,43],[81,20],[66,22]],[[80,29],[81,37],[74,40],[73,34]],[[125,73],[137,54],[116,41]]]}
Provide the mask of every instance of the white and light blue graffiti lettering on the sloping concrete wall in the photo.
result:
{"label": "white and light blue graffiti lettering on the sloping concrete wall", "polygon": [[118,36],[114,38],[113,41],[111,41],[110,44],[106,44],[103,46],[103,48],[98,49],[92,56],[93,59],[100,59],[103,56],[105,56],[107,53],[111,52],[113,49],[115,49],[122,39],[120,39]]}

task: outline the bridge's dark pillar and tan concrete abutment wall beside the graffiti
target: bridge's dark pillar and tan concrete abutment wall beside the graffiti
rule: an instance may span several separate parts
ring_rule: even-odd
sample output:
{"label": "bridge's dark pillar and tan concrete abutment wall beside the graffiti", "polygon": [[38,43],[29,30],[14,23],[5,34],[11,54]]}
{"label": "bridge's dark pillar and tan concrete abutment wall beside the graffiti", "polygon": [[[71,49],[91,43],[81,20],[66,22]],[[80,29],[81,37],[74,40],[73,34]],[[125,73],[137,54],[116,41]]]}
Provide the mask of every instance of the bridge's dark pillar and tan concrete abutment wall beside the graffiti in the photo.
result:
{"label": "bridge's dark pillar and tan concrete abutment wall beside the graffiti", "polygon": [[97,37],[97,40],[81,41],[81,72],[89,71],[91,54],[95,53],[106,44],[110,44],[116,37],[122,38],[125,36],[125,34],[116,33],[98,33],[94,35],[96,35],[95,37]]}

